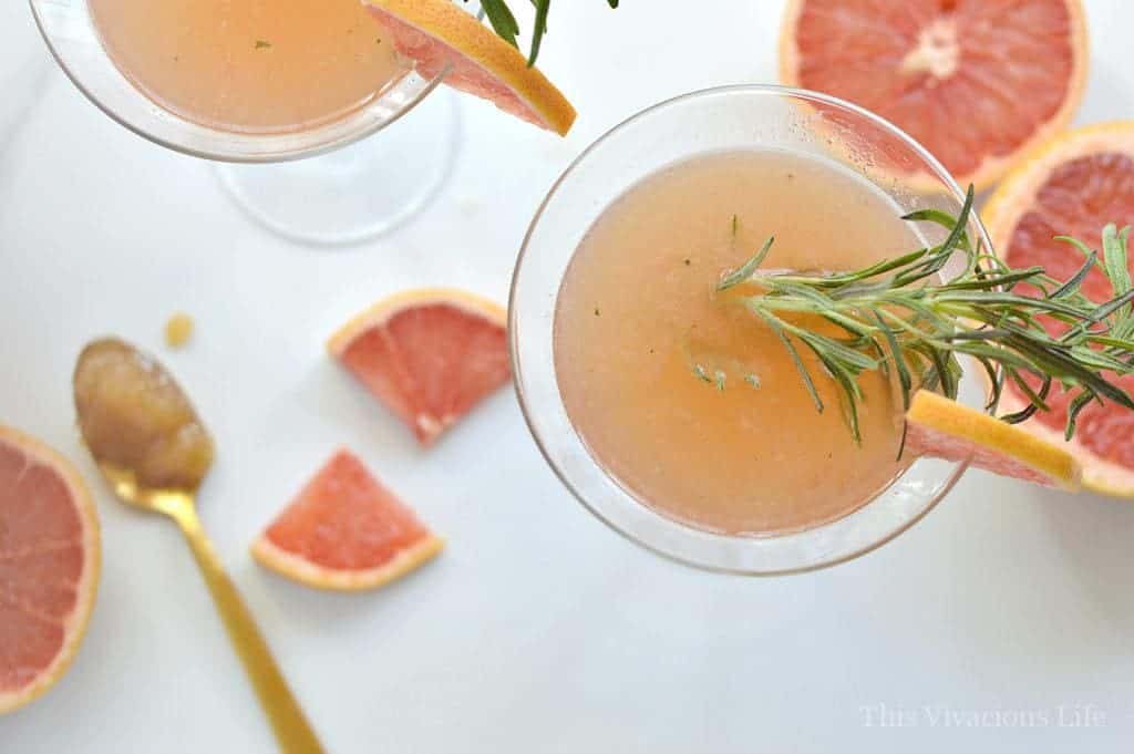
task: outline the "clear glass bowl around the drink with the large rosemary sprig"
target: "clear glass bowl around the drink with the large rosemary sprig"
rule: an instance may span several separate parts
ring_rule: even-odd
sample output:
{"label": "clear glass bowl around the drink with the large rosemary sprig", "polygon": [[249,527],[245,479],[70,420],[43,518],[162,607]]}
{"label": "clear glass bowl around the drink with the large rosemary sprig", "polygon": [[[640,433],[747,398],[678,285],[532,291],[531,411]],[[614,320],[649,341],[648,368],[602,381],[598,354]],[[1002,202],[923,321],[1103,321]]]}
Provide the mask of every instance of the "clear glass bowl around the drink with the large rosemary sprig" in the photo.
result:
{"label": "clear glass bowl around the drink with the large rosemary sprig", "polygon": [[[790,150],[841,162],[868,177],[896,211],[928,206],[956,214],[964,193],[945,168],[881,118],[833,98],[779,86],[730,86],[686,94],[615,127],[567,169],[532,221],[513,279],[513,368],[527,424],[548,463],[592,514],[659,554],[746,575],[812,570],[861,556],[920,520],[967,464],[916,460],[854,512],[786,534],[731,536],[693,528],[644,505],[608,474],[575,431],[557,382],[556,304],[575,249],[600,214],[629,187],[700,153]],[[988,243],[980,220],[968,228]],[[926,229],[926,240],[940,242]],[[962,399],[983,404],[972,371]]]}

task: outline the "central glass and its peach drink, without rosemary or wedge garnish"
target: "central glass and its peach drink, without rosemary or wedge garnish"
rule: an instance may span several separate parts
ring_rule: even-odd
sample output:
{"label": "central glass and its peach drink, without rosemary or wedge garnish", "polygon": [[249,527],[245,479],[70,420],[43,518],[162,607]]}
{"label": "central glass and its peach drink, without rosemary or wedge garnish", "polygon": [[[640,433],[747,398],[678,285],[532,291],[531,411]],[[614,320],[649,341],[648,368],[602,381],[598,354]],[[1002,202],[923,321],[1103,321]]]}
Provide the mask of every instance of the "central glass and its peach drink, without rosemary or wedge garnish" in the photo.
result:
{"label": "central glass and its peach drink, without rosemary or wedge garnish", "polygon": [[[632,118],[556,185],[517,265],[514,367],[544,455],[612,527],[708,568],[814,568],[904,531],[964,459],[902,452],[908,396],[885,370],[857,378],[852,432],[828,365],[762,327],[755,283],[721,283],[762,246],[769,273],[823,274],[941,244],[913,210],[983,242],[964,205],[912,139],[823,95],[730,87]],[[979,403],[974,378],[956,387]]]}

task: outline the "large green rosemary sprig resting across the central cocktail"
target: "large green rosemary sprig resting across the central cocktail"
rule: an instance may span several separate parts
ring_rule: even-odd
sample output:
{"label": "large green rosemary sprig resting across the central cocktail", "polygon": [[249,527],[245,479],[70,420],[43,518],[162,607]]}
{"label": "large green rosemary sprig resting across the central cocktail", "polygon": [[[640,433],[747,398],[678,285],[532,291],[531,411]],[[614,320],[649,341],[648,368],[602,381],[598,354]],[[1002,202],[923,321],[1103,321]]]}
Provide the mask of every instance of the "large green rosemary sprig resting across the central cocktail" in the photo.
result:
{"label": "large green rosemary sprig resting across the central cocktail", "polygon": [[[1082,409],[1093,400],[1134,408],[1134,399],[1114,376],[1134,374],[1134,283],[1128,272],[1129,228],[1114,224],[1102,231],[1102,254],[1074,238],[1060,237],[1084,255],[1068,280],[1058,281],[1042,268],[1013,269],[965,231],[973,189],[959,215],[926,210],[904,219],[933,222],[948,230],[941,244],[871,266],[833,273],[770,272],[759,268],[772,239],[745,265],[726,276],[718,288],[741,282],[759,286],[759,294],[738,297],[743,306],[772,329],[787,348],[815,407],[823,401],[815,378],[799,356],[810,350],[828,379],[839,388],[850,433],[861,441],[858,378],[881,371],[897,379],[908,407],[919,388],[956,398],[962,374],[958,356],[970,356],[991,380],[987,408],[996,412],[1004,386],[1012,383],[1029,404],[1002,416],[1022,422],[1047,410],[1047,396],[1058,383],[1072,393],[1065,434],[1075,433]],[[959,272],[946,265],[959,255]],[[1095,303],[1080,287],[1099,268],[1110,280],[1112,297]],[[1026,288],[1021,289],[1022,286]],[[807,325],[807,315],[836,325],[826,334]],[[1050,333],[1044,321],[1061,323]],[[1035,387],[1038,386],[1038,387]]]}

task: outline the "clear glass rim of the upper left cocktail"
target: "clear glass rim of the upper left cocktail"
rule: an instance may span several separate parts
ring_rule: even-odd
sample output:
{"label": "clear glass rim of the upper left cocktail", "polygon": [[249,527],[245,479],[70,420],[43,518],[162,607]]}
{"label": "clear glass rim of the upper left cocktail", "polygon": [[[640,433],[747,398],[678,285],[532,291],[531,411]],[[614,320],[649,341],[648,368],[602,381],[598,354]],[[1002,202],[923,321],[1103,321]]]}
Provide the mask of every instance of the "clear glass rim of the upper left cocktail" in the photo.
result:
{"label": "clear glass rim of the upper left cocktail", "polygon": [[[84,9],[86,9],[85,26],[92,34],[94,34],[95,37],[98,37],[98,29],[95,28],[90,10],[87,9],[88,0],[82,0],[82,3]],[[60,40],[54,37],[43,17],[44,0],[28,0],[28,6],[32,10],[32,17],[35,19],[35,26],[40,32],[40,36],[46,43],[48,50],[50,51],[56,63],[64,71],[71,84],[74,84],[75,87],[83,94],[83,96],[102,111],[108,118],[152,144],[156,144],[158,146],[162,146],[179,154],[210,160],[213,162],[245,164],[290,162],[294,160],[319,156],[321,154],[327,154],[328,152],[333,152],[345,146],[349,146],[364,138],[373,136],[387,126],[400,120],[406,113],[416,108],[430,93],[432,93],[452,69],[452,62],[449,62],[440,74],[426,79],[418,76],[413,68],[408,68],[401,76],[387,85],[386,88],[378,92],[371,101],[342,115],[339,118],[332,118],[325,122],[315,124],[311,128],[280,133],[240,133],[204,126],[158,104],[144,92],[142,92],[142,90],[135,86],[135,84],[118,69],[117,63],[115,63],[115,61],[110,58],[109,52],[107,52],[100,41],[99,48],[101,54],[104,56],[109,65],[115,68],[115,73],[129,87],[135,90],[135,93],[138,98],[141,98],[141,101],[146,103],[150,108],[155,108],[161,112],[161,116],[158,117],[170,118],[175,121],[179,121],[189,130],[196,130],[201,134],[214,134],[218,136],[218,139],[222,138],[236,144],[236,146],[231,149],[209,149],[178,143],[171,137],[159,135],[155,133],[155,129],[146,128],[145,124],[138,122],[139,118],[130,118],[110,107],[103,101],[104,98],[100,96],[100,94],[95,91],[100,88],[100,86],[93,81],[96,75],[78,70],[78,66],[70,65],[61,52],[59,44]],[[480,7],[480,3],[476,6],[475,15],[477,19],[484,19],[484,9]],[[404,99],[403,105],[389,117],[378,117],[375,112],[378,110],[378,105],[382,104],[383,100],[390,98],[391,95],[399,95]],[[263,149],[263,146],[271,143],[272,139],[279,139],[282,144],[296,141],[297,138],[299,143],[294,146],[281,145],[276,150]],[[245,144],[247,145],[247,149],[242,150],[240,145]],[[253,149],[253,145],[256,145],[259,149]]]}

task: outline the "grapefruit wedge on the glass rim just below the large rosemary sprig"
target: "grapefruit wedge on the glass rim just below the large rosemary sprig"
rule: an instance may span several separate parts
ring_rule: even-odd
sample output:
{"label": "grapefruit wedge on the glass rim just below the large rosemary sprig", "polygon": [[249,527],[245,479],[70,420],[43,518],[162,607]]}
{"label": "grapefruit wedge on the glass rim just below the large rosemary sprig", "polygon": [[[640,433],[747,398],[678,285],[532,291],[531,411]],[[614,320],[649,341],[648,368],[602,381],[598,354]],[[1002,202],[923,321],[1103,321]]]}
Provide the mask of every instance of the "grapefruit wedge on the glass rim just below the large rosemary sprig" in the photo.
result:
{"label": "grapefruit wedge on the glass rim just below the large rosemary sprig", "polygon": [[914,393],[906,412],[907,452],[970,460],[1001,476],[1077,490],[1080,465],[1060,444],[929,390]]}

